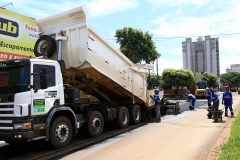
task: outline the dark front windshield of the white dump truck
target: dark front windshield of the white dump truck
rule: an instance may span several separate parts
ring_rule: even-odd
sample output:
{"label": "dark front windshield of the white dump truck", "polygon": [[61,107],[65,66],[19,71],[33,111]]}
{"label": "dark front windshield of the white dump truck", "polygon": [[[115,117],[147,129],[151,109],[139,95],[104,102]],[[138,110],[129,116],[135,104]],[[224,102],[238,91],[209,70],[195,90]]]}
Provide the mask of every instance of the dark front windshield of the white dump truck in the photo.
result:
{"label": "dark front windshield of the white dump truck", "polygon": [[0,94],[29,91],[30,66],[13,66],[0,69]]}

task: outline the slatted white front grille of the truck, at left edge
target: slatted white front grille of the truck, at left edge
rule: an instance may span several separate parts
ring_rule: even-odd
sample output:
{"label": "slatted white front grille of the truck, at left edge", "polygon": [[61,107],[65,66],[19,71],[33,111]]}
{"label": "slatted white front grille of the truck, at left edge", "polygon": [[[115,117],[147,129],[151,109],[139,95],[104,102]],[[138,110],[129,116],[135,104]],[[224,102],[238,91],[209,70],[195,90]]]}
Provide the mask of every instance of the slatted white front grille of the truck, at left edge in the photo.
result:
{"label": "slatted white front grille of the truck, at left edge", "polygon": [[14,103],[6,102],[0,103],[0,129],[12,130],[13,129],[13,115]]}

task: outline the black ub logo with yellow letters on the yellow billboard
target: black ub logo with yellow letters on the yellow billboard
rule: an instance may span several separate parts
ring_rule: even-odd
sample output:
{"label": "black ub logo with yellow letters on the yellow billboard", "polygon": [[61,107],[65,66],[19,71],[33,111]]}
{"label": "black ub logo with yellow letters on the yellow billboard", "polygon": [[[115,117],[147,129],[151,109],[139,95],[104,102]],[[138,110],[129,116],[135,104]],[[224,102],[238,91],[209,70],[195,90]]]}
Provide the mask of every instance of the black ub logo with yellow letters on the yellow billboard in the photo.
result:
{"label": "black ub logo with yellow letters on the yellow billboard", "polygon": [[17,22],[5,18],[0,18],[0,34],[11,37],[18,37],[18,30],[19,25]]}

